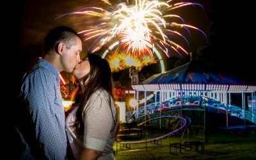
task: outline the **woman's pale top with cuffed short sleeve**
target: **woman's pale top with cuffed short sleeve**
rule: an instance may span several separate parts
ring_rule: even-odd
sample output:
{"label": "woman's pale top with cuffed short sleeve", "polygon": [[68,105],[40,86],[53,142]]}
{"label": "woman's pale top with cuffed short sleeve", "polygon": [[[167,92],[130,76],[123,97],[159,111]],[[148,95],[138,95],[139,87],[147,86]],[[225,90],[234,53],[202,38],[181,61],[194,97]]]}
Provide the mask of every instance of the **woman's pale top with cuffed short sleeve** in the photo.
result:
{"label": "woman's pale top with cuffed short sleeve", "polygon": [[[111,100],[111,109],[109,102]],[[66,131],[70,147],[76,159],[83,148],[102,151],[99,159],[114,159],[113,145],[115,143],[115,129],[113,125],[116,119],[116,108],[114,100],[106,90],[99,89],[91,95],[83,110],[84,135],[78,134],[73,127],[76,120],[77,109],[74,109],[66,119]],[[111,112],[112,110],[112,112]]]}

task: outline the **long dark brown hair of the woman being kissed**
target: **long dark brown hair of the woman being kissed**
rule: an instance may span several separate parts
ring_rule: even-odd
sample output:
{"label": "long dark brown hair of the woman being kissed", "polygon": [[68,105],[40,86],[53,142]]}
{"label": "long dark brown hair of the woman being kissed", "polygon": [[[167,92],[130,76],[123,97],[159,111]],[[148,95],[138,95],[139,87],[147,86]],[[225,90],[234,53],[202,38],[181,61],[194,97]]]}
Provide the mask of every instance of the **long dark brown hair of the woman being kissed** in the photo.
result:
{"label": "long dark brown hair of the woman being kissed", "polygon": [[[90,62],[90,72],[86,74],[83,78],[84,93],[80,97],[79,108],[76,113],[75,127],[79,134],[84,132],[84,122],[83,122],[83,110],[88,102],[90,96],[100,88],[106,90],[109,93],[109,97],[106,97],[109,103],[109,108],[111,109],[111,100],[113,100],[113,77],[111,74],[111,68],[109,67],[108,61],[102,59],[98,54],[89,53],[88,61]],[[116,125],[117,117],[113,115],[111,109],[114,124]],[[115,116],[115,117],[114,117]],[[115,129],[116,126],[113,126]]]}

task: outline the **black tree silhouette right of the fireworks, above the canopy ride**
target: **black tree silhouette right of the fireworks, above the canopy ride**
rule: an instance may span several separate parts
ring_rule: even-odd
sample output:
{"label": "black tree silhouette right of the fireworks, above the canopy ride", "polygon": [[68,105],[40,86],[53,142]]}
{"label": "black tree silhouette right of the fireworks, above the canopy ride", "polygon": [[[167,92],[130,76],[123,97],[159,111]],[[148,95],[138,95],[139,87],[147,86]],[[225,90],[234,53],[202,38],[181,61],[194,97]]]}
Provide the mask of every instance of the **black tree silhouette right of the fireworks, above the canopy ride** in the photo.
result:
{"label": "black tree silhouette right of the fireworks, above the canopy ride", "polygon": [[248,3],[211,1],[207,44],[195,53],[198,63],[256,84],[253,10]]}

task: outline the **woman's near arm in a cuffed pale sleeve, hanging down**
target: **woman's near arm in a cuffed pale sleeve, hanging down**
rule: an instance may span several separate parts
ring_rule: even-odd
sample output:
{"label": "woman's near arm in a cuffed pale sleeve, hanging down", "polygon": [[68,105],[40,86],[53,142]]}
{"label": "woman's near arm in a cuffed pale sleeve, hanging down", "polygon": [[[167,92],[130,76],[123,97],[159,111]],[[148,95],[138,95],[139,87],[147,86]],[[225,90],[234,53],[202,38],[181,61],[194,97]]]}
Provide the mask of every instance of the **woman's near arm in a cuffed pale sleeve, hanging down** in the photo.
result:
{"label": "woman's near arm in a cuffed pale sleeve, hanging down", "polygon": [[102,155],[113,126],[111,109],[104,94],[99,90],[88,100],[84,111],[84,150],[81,159],[97,159]]}

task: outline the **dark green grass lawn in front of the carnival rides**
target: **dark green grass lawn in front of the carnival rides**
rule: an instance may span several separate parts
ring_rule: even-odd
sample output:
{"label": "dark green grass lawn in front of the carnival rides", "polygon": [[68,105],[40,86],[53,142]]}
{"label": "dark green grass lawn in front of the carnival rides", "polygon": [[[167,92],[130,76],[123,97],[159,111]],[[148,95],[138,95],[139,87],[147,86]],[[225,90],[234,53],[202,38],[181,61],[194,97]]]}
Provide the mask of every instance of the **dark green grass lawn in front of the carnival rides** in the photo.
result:
{"label": "dark green grass lawn in front of the carnival rides", "polygon": [[[161,145],[150,147],[147,150],[128,150],[118,152],[116,160],[123,159],[256,159],[256,135],[252,132],[247,136],[227,134],[211,134],[205,136],[205,151],[202,153],[193,150],[177,150],[170,154],[169,142],[179,141],[179,135],[166,138]],[[184,141],[184,140],[182,140]]]}

